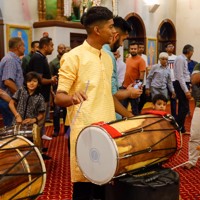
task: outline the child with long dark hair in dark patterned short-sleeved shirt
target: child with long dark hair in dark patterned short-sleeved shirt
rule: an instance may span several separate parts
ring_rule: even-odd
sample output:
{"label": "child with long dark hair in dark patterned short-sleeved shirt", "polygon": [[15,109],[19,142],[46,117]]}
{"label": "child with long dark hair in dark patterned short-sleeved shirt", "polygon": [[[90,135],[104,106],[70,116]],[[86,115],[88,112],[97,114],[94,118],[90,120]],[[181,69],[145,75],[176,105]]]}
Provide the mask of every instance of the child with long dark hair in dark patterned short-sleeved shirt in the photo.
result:
{"label": "child with long dark hair in dark patterned short-sleeved shirt", "polygon": [[13,124],[38,124],[45,113],[45,102],[39,92],[40,77],[35,72],[26,75],[25,87],[17,90],[9,102],[15,119]]}

